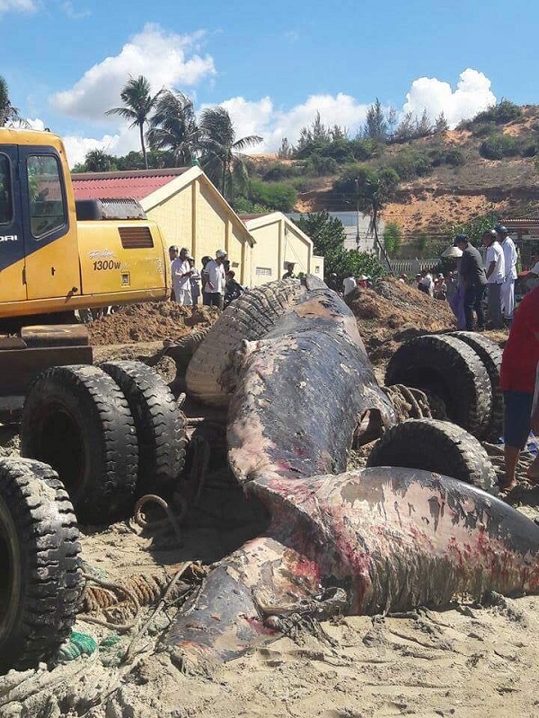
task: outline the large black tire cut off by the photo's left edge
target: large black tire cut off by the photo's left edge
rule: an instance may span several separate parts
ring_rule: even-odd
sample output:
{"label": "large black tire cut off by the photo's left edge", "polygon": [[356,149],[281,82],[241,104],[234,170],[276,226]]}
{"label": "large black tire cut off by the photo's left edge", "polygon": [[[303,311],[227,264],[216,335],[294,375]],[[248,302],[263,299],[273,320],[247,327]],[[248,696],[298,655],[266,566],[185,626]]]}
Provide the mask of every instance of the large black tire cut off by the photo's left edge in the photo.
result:
{"label": "large black tire cut off by the photo's left edge", "polygon": [[57,473],[0,460],[0,673],[49,661],[82,591],[79,533]]}

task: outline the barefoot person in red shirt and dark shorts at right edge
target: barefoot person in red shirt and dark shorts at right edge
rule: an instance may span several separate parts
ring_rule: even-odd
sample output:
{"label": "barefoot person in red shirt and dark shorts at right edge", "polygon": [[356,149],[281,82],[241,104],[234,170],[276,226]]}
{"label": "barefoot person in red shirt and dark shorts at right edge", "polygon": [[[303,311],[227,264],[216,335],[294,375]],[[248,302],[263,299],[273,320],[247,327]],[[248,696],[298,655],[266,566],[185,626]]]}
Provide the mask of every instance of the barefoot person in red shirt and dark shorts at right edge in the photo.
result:
{"label": "barefoot person in red shirt and dark shorts at right edge", "polygon": [[[503,390],[505,442],[505,481],[502,489],[516,484],[515,470],[520,451],[526,446],[531,429],[535,372],[539,363],[539,286],[520,303],[503,351],[499,383]],[[528,469],[528,478],[539,480],[539,461]]]}

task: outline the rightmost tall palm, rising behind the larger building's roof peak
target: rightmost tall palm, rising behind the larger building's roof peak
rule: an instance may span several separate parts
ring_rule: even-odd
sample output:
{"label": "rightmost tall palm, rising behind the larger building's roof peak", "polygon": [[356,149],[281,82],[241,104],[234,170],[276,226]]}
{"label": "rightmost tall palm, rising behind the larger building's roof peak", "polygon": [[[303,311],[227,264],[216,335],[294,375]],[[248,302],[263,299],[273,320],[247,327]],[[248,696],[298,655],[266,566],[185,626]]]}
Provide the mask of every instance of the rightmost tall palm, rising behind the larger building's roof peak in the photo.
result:
{"label": "rightmost tall palm, rising behind the larger building's roof peak", "polygon": [[[224,107],[205,109],[200,118],[202,166],[208,177],[219,183],[223,197],[232,198],[234,179],[245,186],[249,181],[242,152],[259,144],[262,138],[249,135],[236,140],[232,119]],[[227,191],[228,190],[228,191]]]}

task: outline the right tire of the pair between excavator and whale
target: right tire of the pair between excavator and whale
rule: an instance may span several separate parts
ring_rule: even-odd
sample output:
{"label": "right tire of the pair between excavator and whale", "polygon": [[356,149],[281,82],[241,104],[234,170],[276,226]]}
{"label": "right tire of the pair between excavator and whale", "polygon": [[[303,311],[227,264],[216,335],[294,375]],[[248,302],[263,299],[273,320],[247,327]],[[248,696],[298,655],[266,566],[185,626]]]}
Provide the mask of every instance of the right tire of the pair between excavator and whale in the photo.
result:
{"label": "right tire of the pair between excavator and whale", "polygon": [[138,442],[137,494],[171,494],[185,463],[185,417],[161,377],[140,362],[100,364],[128,399]]}

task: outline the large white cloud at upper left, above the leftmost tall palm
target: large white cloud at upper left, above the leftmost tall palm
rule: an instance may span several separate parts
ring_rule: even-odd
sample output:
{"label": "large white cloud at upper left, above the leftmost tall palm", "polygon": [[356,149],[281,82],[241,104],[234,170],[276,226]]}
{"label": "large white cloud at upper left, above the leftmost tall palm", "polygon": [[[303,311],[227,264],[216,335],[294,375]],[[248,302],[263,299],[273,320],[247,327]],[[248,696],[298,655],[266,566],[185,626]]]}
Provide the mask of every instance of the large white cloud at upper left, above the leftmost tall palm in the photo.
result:
{"label": "large white cloud at upper left, above the leftmost tall palm", "polygon": [[197,54],[203,37],[203,32],[177,35],[147,24],[119,55],[91,67],[70,90],[53,95],[51,103],[71,117],[105,121],[106,110],[119,106],[119,93],[129,75],[144,74],[153,92],[163,86],[192,86],[215,74],[213,57]]}

